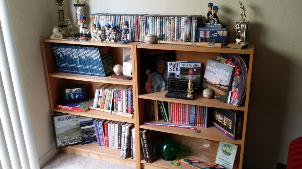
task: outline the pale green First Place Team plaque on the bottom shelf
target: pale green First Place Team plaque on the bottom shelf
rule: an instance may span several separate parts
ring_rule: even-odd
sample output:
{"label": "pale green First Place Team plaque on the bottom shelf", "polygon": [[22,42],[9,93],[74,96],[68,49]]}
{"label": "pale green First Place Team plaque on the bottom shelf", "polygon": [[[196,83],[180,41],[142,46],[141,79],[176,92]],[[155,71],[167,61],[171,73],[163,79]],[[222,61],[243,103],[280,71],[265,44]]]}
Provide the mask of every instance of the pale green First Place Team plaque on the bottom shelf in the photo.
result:
{"label": "pale green First Place Team plaque on the bottom shelf", "polygon": [[215,162],[223,165],[226,169],[232,169],[237,148],[238,146],[235,144],[220,141]]}

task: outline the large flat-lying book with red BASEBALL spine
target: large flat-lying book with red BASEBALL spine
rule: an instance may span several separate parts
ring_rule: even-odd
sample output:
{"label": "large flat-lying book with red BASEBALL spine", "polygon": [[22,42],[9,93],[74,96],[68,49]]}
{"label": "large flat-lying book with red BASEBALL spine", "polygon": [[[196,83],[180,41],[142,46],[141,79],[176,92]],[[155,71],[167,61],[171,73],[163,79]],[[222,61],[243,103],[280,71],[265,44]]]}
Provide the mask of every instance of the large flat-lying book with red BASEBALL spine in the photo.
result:
{"label": "large flat-lying book with red BASEBALL spine", "polygon": [[76,102],[76,103],[67,103],[64,105],[57,104],[57,108],[66,109],[66,110],[73,110],[77,112],[86,112],[89,109],[89,106],[93,105],[94,99],[88,99],[84,102]]}

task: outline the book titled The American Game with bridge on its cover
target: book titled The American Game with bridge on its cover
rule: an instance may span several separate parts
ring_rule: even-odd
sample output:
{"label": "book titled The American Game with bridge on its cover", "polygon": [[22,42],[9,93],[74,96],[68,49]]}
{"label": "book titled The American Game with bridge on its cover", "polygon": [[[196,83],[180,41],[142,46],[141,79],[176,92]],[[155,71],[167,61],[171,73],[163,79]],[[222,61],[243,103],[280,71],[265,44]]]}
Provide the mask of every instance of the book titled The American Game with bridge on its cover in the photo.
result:
{"label": "book titled The American Game with bridge on its cover", "polygon": [[202,85],[204,88],[213,90],[215,99],[226,103],[231,88],[233,72],[234,66],[208,59]]}

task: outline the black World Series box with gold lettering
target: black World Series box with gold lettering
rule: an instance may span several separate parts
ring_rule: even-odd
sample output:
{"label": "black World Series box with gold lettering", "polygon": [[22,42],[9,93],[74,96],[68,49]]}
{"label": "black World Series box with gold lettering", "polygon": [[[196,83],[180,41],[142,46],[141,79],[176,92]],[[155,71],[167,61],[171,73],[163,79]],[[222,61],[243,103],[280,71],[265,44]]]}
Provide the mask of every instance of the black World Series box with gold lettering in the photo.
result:
{"label": "black World Series box with gold lettering", "polygon": [[214,126],[233,140],[242,137],[243,115],[243,111],[212,108]]}

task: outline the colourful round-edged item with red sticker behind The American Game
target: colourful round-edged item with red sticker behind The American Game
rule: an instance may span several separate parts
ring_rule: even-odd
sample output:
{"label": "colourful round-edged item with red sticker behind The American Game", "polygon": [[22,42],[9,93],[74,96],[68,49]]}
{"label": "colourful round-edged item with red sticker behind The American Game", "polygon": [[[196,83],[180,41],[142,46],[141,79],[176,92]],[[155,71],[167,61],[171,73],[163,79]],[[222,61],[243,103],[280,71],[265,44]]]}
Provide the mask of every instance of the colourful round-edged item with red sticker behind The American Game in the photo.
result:
{"label": "colourful round-edged item with red sticker behind The American Game", "polygon": [[219,54],[217,61],[235,66],[230,103],[240,106],[246,92],[247,68],[243,59],[237,54]]}

